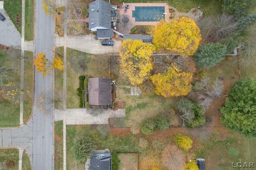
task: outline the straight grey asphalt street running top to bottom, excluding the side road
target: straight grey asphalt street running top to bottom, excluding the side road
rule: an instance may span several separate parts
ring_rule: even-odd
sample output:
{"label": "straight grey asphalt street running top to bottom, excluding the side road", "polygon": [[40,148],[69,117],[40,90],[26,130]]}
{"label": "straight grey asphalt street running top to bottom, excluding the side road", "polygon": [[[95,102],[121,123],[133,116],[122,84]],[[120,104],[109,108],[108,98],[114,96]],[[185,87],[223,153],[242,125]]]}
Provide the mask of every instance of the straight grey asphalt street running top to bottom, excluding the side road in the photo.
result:
{"label": "straight grey asphalt street running top to bottom, excluding the side road", "polygon": [[[54,19],[45,14],[42,1],[35,1],[35,55],[41,52],[46,53],[47,58],[52,60],[54,50]],[[50,72],[50,75],[42,77],[35,70],[32,162],[33,169],[36,170],[53,169],[53,108],[47,109],[47,112],[41,112],[36,104],[38,96],[50,88],[53,88],[52,72]]]}

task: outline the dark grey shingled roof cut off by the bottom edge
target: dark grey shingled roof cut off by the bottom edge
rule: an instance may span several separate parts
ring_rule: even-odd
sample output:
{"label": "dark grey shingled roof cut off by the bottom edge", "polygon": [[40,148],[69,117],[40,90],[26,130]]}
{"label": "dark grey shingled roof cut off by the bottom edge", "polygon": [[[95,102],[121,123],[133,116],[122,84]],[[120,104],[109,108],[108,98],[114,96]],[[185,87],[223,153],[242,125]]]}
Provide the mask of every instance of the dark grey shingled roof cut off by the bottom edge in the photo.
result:
{"label": "dark grey shingled roof cut off by the bottom edge", "polygon": [[111,170],[110,153],[93,153],[90,158],[89,170]]}

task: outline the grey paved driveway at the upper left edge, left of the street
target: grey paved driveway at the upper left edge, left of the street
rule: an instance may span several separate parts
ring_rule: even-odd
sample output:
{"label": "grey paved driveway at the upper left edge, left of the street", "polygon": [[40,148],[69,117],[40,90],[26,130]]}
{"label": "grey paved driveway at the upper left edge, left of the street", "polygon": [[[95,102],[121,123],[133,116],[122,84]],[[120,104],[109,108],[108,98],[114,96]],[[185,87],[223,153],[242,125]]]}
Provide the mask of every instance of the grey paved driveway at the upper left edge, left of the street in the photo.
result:
{"label": "grey paved driveway at the upper left edge, left of the street", "polygon": [[20,48],[21,35],[19,31],[13,25],[4,9],[0,9],[0,13],[5,17],[5,21],[0,21],[0,44]]}

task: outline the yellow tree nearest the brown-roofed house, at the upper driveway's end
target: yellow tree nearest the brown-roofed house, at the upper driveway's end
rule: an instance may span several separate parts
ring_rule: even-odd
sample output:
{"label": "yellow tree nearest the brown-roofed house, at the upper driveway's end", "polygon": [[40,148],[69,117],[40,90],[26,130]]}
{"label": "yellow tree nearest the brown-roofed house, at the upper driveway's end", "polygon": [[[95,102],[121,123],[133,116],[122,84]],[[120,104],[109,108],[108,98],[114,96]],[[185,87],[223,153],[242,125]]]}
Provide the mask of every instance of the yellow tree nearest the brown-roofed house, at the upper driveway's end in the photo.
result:
{"label": "yellow tree nearest the brown-roofed house, at the upper driveway's end", "polygon": [[155,47],[141,40],[126,39],[120,48],[121,72],[127,76],[132,85],[143,83],[153,69],[151,53]]}

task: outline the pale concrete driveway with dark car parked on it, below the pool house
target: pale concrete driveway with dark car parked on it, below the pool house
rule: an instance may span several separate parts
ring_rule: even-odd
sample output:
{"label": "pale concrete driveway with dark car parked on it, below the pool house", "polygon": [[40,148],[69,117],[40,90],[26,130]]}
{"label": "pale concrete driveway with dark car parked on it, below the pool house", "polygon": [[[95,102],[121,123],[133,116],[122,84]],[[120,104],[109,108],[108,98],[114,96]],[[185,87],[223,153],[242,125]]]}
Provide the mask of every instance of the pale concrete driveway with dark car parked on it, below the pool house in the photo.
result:
{"label": "pale concrete driveway with dark car parked on it, below the pool house", "polygon": [[75,50],[83,51],[90,54],[104,54],[109,52],[119,52],[119,48],[122,44],[122,41],[115,41],[114,46],[103,46],[101,45],[100,40],[95,40],[94,35],[84,35],[84,36],[67,36],[65,37],[56,37],[55,45],[64,46],[68,48],[73,48]]}

